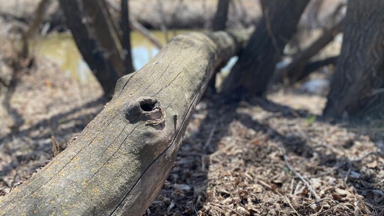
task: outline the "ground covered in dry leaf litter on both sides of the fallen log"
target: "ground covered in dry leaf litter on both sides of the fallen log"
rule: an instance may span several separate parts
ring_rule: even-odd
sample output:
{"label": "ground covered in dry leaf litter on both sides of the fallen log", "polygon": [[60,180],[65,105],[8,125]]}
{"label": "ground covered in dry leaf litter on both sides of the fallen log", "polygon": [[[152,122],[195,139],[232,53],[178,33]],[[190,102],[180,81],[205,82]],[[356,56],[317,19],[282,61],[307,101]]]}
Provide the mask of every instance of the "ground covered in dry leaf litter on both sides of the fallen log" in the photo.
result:
{"label": "ground covered in dry leaf litter on both sides of the fallen log", "polygon": [[[44,59],[36,68],[8,102],[1,94],[0,193],[52,158],[52,136],[63,150],[106,102],[95,81]],[[383,215],[383,122],[322,121],[325,98],[297,90],[267,98],[202,100],[146,215]]]}

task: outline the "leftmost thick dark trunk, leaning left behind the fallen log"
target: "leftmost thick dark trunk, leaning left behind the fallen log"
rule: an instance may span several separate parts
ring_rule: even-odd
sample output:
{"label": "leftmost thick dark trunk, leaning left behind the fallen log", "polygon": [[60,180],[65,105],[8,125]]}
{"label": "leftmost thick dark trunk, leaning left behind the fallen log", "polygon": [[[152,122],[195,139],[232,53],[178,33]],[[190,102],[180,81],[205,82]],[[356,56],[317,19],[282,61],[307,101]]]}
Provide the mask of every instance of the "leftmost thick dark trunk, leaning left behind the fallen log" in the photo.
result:
{"label": "leftmost thick dark trunk, leaning left behind the fallen log", "polygon": [[96,39],[90,32],[88,23],[84,21],[84,12],[78,0],[60,0],[68,28],[81,55],[104,90],[104,93],[113,95],[115,84],[121,77],[115,71],[103,52],[99,49]]}

